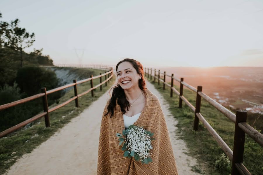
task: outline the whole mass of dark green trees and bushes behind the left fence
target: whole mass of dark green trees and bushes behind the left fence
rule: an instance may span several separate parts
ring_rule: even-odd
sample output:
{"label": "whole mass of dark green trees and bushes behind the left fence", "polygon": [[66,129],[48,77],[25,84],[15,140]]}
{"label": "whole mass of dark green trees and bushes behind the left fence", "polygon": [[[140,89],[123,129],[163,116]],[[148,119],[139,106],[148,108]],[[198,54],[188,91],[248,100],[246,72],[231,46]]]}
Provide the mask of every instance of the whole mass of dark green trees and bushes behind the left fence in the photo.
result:
{"label": "whole mass of dark green trees and bushes behind the left fence", "polygon": [[[58,78],[52,71],[46,71],[39,65],[53,65],[49,55],[34,49],[26,53],[23,49],[34,43],[34,33],[19,27],[19,20],[1,21],[0,13],[0,105],[10,103],[58,86]],[[61,97],[62,92],[48,96],[49,105]],[[42,99],[38,98],[0,111],[0,131],[10,128],[43,111]]]}

